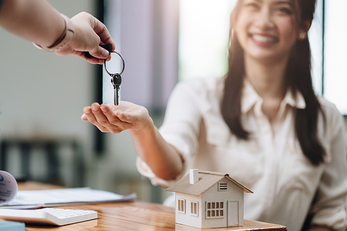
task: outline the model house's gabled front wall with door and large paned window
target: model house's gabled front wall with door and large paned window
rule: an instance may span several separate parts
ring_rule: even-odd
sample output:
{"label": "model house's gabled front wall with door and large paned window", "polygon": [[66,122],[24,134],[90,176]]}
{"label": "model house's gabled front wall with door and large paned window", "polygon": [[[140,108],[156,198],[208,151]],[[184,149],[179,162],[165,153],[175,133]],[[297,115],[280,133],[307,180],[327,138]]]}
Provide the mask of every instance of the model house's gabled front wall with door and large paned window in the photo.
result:
{"label": "model house's gabled front wall with door and large paned window", "polygon": [[[239,225],[244,223],[244,189],[223,178],[219,182],[228,182],[228,191],[218,191],[218,182],[202,194],[201,210],[203,211],[201,228],[219,228],[228,226],[228,200],[239,201]],[[223,201],[223,218],[206,219],[206,202]]]}

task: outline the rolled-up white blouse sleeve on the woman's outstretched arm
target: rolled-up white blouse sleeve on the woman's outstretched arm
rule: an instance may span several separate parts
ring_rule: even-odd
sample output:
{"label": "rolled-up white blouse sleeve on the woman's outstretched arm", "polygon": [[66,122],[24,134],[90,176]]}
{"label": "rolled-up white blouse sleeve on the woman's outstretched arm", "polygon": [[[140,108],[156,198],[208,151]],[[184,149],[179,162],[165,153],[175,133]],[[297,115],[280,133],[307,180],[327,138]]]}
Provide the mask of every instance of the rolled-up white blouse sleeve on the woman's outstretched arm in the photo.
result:
{"label": "rolled-up white blouse sleeve on the woman's outstretched arm", "polygon": [[169,187],[185,175],[189,157],[198,150],[198,132],[200,130],[201,114],[198,106],[198,83],[190,81],[176,85],[165,112],[164,121],[160,127],[162,137],[180,153],[184,168],[174,180],[162,180],[155,176],[149,166],[137,157],[137,170],[151,180],[153,185]]}

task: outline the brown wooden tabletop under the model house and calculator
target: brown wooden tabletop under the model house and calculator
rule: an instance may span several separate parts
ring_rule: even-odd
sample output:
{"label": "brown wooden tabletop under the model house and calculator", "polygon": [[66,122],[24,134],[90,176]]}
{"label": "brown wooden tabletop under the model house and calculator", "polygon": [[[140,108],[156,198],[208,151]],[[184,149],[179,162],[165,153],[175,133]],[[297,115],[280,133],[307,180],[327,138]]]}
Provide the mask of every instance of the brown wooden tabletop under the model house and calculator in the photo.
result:
{"label": "brown wooden tabletop under the model house and calculator", "polygon": [[[19,190],[58,189],[53,185],[36,182],[19,183]],[[238,228],[198,229],[175,223],[175,209],[160,204],[135,201],[130,203],[108,203],[96,205],[64,206],[61,208],[85,209],[98,212],[98,219],[64,226],[26,224],[28,231],[38,230],[121,230],[121,231],[157,231],[157,230],[287,230],[285,226],[244,220],[244,226]]]}

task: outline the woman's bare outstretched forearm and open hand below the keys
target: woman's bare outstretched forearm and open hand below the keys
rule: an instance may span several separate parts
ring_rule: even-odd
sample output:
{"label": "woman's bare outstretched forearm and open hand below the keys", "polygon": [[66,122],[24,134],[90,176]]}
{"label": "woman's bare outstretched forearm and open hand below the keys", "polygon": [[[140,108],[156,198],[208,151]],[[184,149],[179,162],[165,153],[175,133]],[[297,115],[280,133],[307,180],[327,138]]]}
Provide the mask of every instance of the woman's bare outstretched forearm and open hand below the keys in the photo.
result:
{"label": "woman's bare outstretched forearm and open hand below the keys", "polygon": [[81,119],[90,121],[102,132],[117,134],[128,130],[137,154],[159,178],[172,180],[182,171],[183,160],[162,138],[146,108],[121,101],[117,106],[93,103],[83,112]]}

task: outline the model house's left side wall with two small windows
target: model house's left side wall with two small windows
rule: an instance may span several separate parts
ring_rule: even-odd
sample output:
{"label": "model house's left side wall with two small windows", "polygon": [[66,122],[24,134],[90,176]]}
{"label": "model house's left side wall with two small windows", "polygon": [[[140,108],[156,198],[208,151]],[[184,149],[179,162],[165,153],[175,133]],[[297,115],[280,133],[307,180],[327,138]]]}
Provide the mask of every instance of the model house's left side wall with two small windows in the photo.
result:
{"label": "model house's left side wall with two small windows", "polygon": [[[185,214],[178,212],[178,199],[185,199]],[[198,202],[198,216],[191,214],[192,201]],[[204,213],[201,210],[201,196],[192,196],[187,194],[176,193],[175,205],[176,205],[176,223],[194,226],[196,228],[202,228],[202,219]]]}

